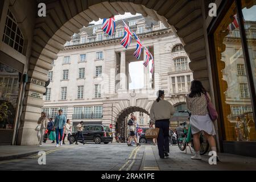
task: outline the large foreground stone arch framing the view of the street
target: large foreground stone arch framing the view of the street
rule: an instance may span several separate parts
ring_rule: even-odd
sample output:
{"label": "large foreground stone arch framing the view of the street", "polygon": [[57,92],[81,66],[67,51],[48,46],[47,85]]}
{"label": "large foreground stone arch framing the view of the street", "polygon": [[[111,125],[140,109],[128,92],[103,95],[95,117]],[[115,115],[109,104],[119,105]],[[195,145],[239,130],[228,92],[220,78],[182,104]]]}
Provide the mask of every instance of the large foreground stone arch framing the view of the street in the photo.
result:
{"label": "large foreground stone arch framing the view of the street", "polygon": [[[64,48],[67,41],[71,40],[74,33],[79,32],[82,26],[87,26],[90,21],[98,20],[98,18],[109,18],[113,15],[130,12],[148,15],[173,26],[172,29],[183,40],[185,51],[191,59],[189,67],[195,71],[193,77],[201,80],[205,88],[209,89],[204,21],[201,11],[203,6],[200,0],[134,0],[129,2],[121,0],[56,0],[43,2],[47,6],[47,16],[36,19],[29,77],[43,82],[47,81],[47,73],[52,69],[52,60],[57,59],[57,53]],[[29,91],[43,94],[46,89],[32,83],[27,84],[27,94],[24,98],[26,109],[22,113],[18,133],[18,144],[22,145],[35,144],[35,140],[30,135],[35,132],[36,118],[43,106],[42,100],[28,96]]]}

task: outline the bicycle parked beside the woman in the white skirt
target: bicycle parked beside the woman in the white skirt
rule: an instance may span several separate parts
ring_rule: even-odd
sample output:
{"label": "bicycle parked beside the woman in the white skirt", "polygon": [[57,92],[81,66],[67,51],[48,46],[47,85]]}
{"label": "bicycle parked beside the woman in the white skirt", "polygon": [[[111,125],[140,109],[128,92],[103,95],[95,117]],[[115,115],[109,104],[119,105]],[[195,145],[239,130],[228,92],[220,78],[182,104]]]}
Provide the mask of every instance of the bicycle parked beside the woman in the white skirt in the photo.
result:
{"label": "bicycle parked beside the woman in the white skirt", "polygon": [[[179,111],[179,113],[188,113],[189,118],[191,118],[191,113],[187,110]],[[195,150],[195,146],[193,144],[193,135],[191,133],[191,125],[188,125],[187,122],[183,122],[180,124],[180,127],[177,127],[177,144],[181,151],[185,150],[185,153],[187,154],[187,147],[189,147],[189,150],[192,152],[191,148]],[[189,146],[189,143],[191,143],[191,146]],[[209,149],[209,143],[208,140],[204,137],[203,133],[200,134],[200,155],[204,155],[208,152]]]}

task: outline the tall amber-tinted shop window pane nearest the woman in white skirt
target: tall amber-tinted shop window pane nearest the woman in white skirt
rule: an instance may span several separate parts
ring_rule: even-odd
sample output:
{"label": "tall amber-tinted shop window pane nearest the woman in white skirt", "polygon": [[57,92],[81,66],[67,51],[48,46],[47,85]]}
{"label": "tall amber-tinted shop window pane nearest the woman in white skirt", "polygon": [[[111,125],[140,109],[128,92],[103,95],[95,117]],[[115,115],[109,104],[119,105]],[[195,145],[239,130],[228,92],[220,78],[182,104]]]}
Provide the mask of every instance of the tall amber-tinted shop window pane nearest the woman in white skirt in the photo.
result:
{"label": "tall amber-tinted shop window pane nearest the woman in white skirt", "polygon": [[[254,22],[246,19],[245,24],[247,31],[255,27]],[[254,125],[252,98],[235,3],[214,32],[214,43],[226,140],[256,141],[255,137],[250,137],[248,130],[249,125]]]}

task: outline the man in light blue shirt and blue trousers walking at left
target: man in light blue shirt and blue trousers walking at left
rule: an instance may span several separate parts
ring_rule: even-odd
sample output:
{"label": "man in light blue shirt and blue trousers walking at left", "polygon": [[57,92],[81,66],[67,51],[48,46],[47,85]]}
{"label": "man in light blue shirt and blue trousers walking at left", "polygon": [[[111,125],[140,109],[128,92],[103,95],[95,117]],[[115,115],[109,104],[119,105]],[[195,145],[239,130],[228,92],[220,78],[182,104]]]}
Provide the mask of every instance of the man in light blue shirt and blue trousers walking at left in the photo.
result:
{"label": "man in light blue shirt and blue trousers walking at left", "polygon": [[[63,115],[63,111],[60,109],[59,114],[56,115],[54,123],[53,123],[53,130],[56,130],[56,147],[62,146],[62,137],[63,137],[63,129],[66,124],[66,117]],[[60,135],[60,138],[59,138]]]}

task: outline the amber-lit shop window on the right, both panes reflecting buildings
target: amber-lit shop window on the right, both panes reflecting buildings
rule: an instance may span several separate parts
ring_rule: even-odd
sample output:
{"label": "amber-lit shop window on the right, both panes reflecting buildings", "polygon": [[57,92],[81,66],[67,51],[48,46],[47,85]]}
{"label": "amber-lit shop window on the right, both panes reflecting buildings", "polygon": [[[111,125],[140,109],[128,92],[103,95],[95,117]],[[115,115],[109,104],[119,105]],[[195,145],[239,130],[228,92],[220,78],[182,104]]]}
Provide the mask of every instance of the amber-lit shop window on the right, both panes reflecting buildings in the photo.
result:
{"label": "amber-lit shop window on the right, both panes reflecting buildings", "polygon": [[[241,1],[243,25],[246,32],[248,49],[243,49],[236,1],[225,14],[214,31],[214,47],[218,87],[221,96],[221,109],[224,119],[225,140],[256,142],[255,114],[250,89],[256,87],[256,6],[254,1]],[[245,37],[245,36],[244,36]],[[249,69],[248,59],[250,56]],[[250,74],[249,74],[250,73]],[[253,75],[253,80],[249,75]]]}

